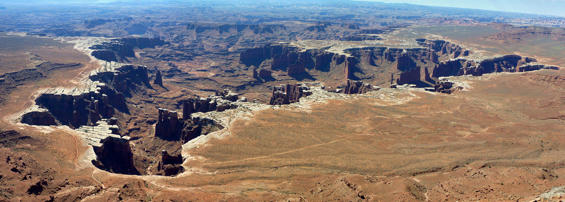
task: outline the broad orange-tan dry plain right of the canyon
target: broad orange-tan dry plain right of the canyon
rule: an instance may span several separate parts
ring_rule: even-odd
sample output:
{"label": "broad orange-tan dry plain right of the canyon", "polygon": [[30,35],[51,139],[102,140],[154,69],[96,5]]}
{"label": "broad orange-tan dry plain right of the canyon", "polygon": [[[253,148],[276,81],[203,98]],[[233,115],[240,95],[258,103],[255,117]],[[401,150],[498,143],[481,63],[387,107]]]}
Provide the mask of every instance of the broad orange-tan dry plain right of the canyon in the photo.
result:
{"label": "broad orange-tan dry plain right of the canyon", "polygon": [[[516,115],[523,113],[525,104],[553,94],[538,93],[536,88],[507,89],[518,85],[512,76],[485,83],[455,95],[418,93],[419,99],[399,106],[373,106],[371,100],[359,99],[333,100],[312,112],[262,111],[252,121],[238,122],[231,137],[194,150],[205,160],[190,166],[218,172],[294,166],[398,175],[447,171],[476,162],[536,164],[542,156],[555,160],[563,153],[558,141],[561,121]],[[509,86],[496,86],[501,84]],[[507,104],[514,99],[524,103]]]}

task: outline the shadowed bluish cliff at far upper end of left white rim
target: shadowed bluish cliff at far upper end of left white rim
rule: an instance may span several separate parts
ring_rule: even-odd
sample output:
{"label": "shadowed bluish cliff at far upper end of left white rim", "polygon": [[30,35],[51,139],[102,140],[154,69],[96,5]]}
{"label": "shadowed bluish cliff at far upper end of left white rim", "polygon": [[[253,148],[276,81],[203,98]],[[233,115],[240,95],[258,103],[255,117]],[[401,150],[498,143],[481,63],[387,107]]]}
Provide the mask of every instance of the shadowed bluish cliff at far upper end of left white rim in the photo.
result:
{"label": "shadowed bluish cliff at far upper end of left white rim", "polygon": [[99,45],[89,47],[92,49],[90,55],[99,60],[106,62],[121,62],[127,61],[127,58],[135,58],[134,48],[145,49],[155,48],[155,46],[162,46],[170,44],[159,38],[118,38],[111,39],[108,42],[103,42]]}

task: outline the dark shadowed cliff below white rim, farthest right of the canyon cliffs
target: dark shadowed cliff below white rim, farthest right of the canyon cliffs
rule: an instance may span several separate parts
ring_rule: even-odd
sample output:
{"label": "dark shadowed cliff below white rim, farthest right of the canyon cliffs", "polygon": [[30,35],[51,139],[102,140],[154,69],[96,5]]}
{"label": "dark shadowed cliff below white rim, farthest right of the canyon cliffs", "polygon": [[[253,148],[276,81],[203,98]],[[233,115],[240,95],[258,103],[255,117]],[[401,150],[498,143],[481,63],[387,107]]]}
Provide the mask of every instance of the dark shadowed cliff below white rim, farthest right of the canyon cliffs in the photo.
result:
{"label": "dark shadowed cliff below white rim, farthest right of the canyon cliffs", "polygon": [[[485,59],[481,62],[466,59],[454,59],[441,62],[433,69],[432,77],[442,76],[481,76],[494,72],[524,72],[545,68],[545,65],[533,65],[534,58],[519,55],[504,55],[497,58]],[[551,67],[547,67],[551,68]],[[555,67],[554,67],[555,68]]]}

